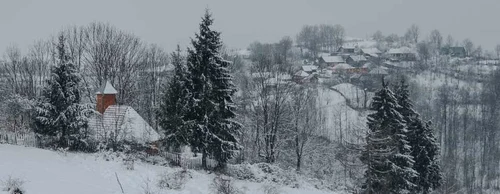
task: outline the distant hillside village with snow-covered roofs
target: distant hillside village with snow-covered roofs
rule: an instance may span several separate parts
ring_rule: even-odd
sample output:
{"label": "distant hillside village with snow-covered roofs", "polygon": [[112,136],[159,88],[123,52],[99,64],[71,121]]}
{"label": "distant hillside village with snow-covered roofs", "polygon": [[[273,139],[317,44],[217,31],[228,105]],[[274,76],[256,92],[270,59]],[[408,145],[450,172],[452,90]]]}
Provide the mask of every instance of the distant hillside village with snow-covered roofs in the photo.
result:
{"label": "distant hillside village with snow-covered roofs", "polygon": [[[295,47],[302,55],[307,49]],[[251,51],[239,50],[237,54],[249,59]],[[465,47],[448,46],[439,50],[439,55],[454,59],[468,58]],[[321,83],[328,87],[340,83],[351,83],[361,89],[375,91],[382,77],[394,73],[412,71],[419,62],[417,49],[409,46],[389,48],[381,51],[376,41],[355,39],[346,41],[334,52],[320,52],[311,59],[299,60],[289,73],[253,72],[252,77],[267,78],[268,87],[279,83]]]}

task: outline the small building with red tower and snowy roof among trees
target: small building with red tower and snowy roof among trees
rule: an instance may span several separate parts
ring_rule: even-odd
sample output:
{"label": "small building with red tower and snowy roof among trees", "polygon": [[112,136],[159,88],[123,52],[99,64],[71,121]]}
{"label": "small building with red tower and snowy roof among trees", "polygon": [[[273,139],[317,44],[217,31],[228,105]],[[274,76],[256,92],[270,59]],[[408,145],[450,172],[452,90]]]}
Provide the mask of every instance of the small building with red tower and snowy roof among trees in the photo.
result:
{"label": "small building with red tower and snowy roof among trees", "polygon": [[97,113],[89,120],[89,128],[96,139],[115,138],[137,143],[159,140],[160,135],[132,107],[117,105],[117,94],[109,81],[96,92]]}

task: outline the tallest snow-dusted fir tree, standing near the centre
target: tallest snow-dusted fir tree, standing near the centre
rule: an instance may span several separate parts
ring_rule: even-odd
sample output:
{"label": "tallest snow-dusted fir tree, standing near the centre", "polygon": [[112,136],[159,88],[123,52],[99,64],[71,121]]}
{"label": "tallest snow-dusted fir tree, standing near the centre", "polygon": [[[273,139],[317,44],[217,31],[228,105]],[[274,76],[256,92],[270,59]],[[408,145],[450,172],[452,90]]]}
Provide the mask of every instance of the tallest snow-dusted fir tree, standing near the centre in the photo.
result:
{"label": "tallest snow-dusted fir tree, standing near the centre", "polygon": [[220,32],[212,30],[213,19],[208,10],[200,24],[200,31],[188,49],[188,72],[192,90],[186,119],[193,128],[191,146],[203,154],[206,168],[208,155],[224,165],[240,147],[236,139],[240,125],[235,117],[231,96],[235,88],[227,69],[229,63],[220,54]]}

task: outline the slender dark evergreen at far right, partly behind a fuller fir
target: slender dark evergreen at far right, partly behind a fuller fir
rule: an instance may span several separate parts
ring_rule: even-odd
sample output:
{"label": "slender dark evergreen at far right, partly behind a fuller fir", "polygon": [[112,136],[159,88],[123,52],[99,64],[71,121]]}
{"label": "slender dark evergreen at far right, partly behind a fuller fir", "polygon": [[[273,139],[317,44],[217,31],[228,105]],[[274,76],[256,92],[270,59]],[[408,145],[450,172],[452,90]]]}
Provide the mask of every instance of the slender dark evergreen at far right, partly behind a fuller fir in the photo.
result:
{"label": "slender dark evergreen at far right, partly behind a fuller fir", "polygon": [[419,174],[413,182],[417,184],[417,191],[429,193],[441,185],[441,172],[437,162],[438,145],[430,122],[424,122],[413,109],[410,100],[410,91],[405,79],[402,78],[396,88],[398,112],[408,126],[408,139],[411,147],[411,156],[415,160],[413,169]]}

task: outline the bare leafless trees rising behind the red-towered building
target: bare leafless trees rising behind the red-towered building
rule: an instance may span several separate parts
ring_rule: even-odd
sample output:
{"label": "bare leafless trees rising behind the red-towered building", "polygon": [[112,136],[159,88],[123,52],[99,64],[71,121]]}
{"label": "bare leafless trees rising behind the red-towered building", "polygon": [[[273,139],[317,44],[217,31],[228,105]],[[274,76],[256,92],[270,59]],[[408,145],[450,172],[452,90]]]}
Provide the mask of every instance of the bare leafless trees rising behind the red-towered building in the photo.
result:
{"label": "bare leafless trees rising behind the red-towered building", "polygon": [[[159,107],[162,94],[160,87],[170,77],[165,71],[169,62],[168,53],[106,23],[68,27],[58,34],[64,36],[68,61],[81,73],[83,103],[95,103],[95,90],[106,80],[110,81],[120,94],[117,103],[132,106],[151,126],[157,128],[155,110]],[[45,80],[51,76],[50,69],[58,63],[58,37],[36,41],[26,54],[22,54],[16,46],[7,48],[4,61],[0,63],[0,74],[5,80],[0,87],[3,101],[17,98],[34,104],[42,96]],[[3,118],[12,119],[2,123],[27,130],[33,123],[29,115],[33,108],[23,107],[18,111],[4,109]],[[13,112],[22,114],[12,115]]]}

